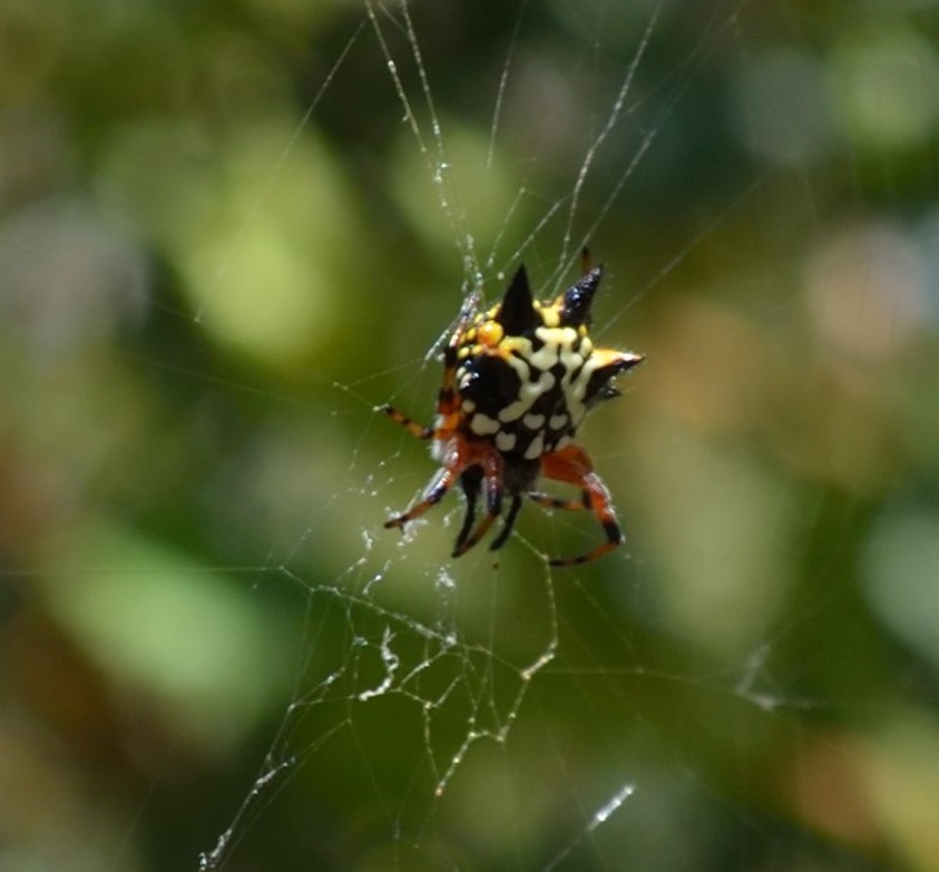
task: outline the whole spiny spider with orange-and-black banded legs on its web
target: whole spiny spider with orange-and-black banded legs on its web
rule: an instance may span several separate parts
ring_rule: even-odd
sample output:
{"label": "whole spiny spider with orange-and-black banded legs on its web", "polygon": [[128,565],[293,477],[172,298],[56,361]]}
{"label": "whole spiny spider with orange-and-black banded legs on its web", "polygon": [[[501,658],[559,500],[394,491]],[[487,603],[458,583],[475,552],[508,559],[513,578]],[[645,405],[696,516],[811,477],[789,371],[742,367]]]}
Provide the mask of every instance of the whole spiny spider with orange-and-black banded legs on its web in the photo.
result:
{"label": "whole spiny spider with orange-and-black banded legs on its web", "polygon": [[[550,302],[532,298],[525,265],[501,302],[487,312],[466,312],[443,352],[443,384],[433,427],[422,427],[391,405],[381,410],[418,439],[432,440],[440,463],[422,498],[385,528],[404,525],[433,508],[459,482],[467,513],[452,557],[469,551],[508,511],[491,550],[505,545],[525,496],[554,509],[586,509],[606,540],[577,557],[552,558],[551,566],[576,566],[616,548],[623,533],[609,492],[587,452],[573,441],[594,405],[619,394],[613,379],[643,357],[594,347],[590,304],[603,265],[581,254],[583,276]],[[534,490],[539,478],[580,489],[579,499],[556,499]],[[486,515],[473,528],[477,503]]]}

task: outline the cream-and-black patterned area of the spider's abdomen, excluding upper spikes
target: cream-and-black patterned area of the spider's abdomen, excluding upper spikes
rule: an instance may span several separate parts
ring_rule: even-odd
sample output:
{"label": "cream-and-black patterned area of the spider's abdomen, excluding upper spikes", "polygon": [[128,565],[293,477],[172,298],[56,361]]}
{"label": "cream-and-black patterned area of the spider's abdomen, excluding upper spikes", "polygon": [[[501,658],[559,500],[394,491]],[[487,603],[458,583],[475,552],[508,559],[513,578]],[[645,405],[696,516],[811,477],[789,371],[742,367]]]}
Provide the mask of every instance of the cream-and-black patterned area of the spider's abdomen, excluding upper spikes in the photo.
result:
{"label": "cream-and-black patterned area of the spider's abdomen, excluding upper spikes", "polygon": [[587,410],[616,395],[609,382],[619,368],[600,365],[593,351],[586,332],[539,326],[467,356],[457,369],[463,431],[524,460],[564,448]]}

